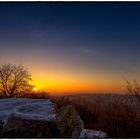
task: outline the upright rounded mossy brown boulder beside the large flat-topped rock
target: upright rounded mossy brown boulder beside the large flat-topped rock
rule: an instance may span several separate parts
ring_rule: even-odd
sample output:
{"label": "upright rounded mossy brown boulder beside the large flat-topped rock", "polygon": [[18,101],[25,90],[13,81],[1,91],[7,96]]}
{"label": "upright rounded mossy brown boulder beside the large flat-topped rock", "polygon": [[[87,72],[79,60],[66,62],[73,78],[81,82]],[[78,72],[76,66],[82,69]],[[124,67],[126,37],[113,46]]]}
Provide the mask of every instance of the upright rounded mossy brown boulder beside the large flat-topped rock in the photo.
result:
{"label": "upright rounded mossy brown boulder beside the large flat-topped rock", "polygon": [[58,112],[58,128],[62,138],[78,138],[83,129],[83,121],[72,106],[66,106]]}

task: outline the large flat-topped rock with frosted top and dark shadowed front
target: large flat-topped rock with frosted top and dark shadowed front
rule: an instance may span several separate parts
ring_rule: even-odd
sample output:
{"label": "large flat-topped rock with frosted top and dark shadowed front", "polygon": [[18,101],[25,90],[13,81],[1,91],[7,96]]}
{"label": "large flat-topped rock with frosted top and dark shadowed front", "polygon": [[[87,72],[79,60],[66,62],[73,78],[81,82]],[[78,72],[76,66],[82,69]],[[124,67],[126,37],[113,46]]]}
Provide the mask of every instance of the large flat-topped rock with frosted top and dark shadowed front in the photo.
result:
{"label": "large flat-topped rock with frosted top and dark shadowed front", "polygon": [[3,137],[59,137],[54,108],[52,103],[28,103],[17,106],[6,122]]}

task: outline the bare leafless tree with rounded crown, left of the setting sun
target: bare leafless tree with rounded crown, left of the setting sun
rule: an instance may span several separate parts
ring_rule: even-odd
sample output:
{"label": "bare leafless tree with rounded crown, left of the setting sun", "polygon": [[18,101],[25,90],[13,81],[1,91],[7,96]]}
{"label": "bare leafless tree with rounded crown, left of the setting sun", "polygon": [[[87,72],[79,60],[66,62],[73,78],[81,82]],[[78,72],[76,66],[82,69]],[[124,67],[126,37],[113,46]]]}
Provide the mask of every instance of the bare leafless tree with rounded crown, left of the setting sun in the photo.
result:
{"label": "bare leafless tree with rounded crown, left of the setting sun", "polygon": [[0,91],[13,97],[31,89],[31,75],[21,65],[4,64],[0,66]]}

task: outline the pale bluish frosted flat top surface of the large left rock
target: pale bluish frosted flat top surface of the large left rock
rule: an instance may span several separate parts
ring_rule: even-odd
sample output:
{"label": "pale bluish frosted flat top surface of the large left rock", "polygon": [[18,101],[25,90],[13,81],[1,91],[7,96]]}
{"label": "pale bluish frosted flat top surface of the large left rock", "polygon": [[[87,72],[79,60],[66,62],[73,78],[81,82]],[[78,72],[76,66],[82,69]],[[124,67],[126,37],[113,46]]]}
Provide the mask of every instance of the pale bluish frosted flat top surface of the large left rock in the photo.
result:
{"label": "pale bluish frosted flat top surface of the large left rock", "polygon": [[0,100],[0,120],[6,123],[12,114],[30,119],[55,120],[54,104],[48,99],[10,98]]}

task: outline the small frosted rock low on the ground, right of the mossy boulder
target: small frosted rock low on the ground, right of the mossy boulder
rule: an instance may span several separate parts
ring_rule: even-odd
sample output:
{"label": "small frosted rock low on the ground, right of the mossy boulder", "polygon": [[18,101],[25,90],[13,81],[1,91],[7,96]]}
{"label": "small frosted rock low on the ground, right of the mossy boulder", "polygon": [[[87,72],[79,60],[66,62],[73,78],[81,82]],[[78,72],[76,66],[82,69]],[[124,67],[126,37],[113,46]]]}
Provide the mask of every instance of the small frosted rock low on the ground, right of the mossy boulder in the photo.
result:
{"label": "small frosted rock low on the ground, right of the mossy boulder", "polygon": [[79,138],[91,138],[91,139],[101,139],[101,138],[107,138],[107,134],[105,132],[101,131],[94,131],[90,129],[83,129],[80,133]]}

